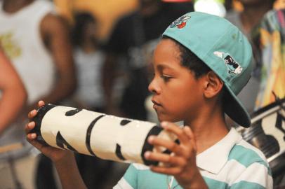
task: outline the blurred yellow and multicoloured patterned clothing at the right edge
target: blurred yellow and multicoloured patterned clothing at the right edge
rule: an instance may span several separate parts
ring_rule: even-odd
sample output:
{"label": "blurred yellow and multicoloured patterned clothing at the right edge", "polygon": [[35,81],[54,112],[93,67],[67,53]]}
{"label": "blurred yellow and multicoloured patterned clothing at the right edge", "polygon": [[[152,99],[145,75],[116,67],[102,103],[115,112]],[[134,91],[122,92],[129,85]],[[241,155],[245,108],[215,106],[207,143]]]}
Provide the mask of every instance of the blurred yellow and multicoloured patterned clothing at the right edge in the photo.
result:
{"label": "blurred yellow and multicoloured patterned clothing at the right edge", "polygon": [[285,97],[284,20],[284,10],[270,10],[261,20],[260,50],[263,64],[256,109]]}

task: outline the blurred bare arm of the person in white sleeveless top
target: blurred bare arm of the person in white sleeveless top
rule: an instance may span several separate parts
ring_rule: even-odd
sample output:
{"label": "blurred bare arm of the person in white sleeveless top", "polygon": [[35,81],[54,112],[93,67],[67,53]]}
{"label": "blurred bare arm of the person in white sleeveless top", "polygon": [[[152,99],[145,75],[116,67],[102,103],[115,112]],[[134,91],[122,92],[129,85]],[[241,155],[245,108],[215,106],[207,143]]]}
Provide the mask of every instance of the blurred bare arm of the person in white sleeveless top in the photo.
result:
{"label": "blurred bare arm of the person in white sleeveless top", "polygon": [[[41,99],[55,104],[72,94],[77,83],[69,28],[65,20],[58,15],[48,14],[41,21],[40,30],[43,41],[51,52],[56,69],[53,90]],[[27,111],[34,107],[37,107],[37,102],[29,106]]]}

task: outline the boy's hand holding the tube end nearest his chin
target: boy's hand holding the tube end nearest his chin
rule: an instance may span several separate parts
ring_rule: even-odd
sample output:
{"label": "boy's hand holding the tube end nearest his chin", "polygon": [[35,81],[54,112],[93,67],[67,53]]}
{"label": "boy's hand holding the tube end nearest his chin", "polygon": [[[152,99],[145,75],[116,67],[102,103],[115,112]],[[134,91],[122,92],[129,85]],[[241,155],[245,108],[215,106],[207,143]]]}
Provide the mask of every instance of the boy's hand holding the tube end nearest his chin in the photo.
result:
{"label": "boy's hand holding the tube end nearest his chin", "polygon": [[164,130],[175,134],[180,144],[150,136],[148,142],[154,146],[163,146],[171,154],[146,152],[145,158],[162,162],[162,166],[151,166],[153,172],[173,175],[183,188],[207,188],[196,165],[196,143],[190,127],[178,127],[174,123],[161,123]]}

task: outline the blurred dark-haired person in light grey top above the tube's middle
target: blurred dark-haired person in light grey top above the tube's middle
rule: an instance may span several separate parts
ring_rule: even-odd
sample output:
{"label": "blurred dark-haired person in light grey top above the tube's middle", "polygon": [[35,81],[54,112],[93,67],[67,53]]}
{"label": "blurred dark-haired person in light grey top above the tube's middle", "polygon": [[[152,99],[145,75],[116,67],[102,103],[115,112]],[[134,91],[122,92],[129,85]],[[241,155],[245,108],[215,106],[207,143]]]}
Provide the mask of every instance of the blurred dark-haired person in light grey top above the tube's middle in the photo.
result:
{"label": "blurred dark-haired person in light grey top above the tube's middle", "polygon": [[105,55],[99,44],[98,27],[91,13],[74,15],[72,42],[78,85],[73,100],[79,108],[102,112],[105,103],[101,73]]}

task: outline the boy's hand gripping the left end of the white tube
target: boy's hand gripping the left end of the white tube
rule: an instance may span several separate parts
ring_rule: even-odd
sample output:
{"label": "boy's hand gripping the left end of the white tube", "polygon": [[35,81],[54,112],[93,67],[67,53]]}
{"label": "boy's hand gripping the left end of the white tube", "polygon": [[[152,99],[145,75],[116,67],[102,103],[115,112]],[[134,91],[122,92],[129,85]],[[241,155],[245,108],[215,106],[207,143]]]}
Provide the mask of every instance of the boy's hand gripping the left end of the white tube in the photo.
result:
{"label": "boy's hand gripping the left end of the white tube", "polygon": [[[39,101],[39,107],[44,106],[43,101]],[[32,119],[34,116],[37,115],[37,110],[32,110],[28,113],[28,118]],[[36,124],[34,122],[29,122],[25,126],[25,132],[27,134],[27,141],[29,141],[30,144],[32,144],[34,147],[36,147],[41,153],[46,155],[48,158],[51,158],[53,162],[60,162],[62,160],[65,160],[66,158],[72,158],[73,153],[70,151],[61,150],[60,148],[54,148],[51,146],[45,146],[43,144],[40,144],[37,141],[37,134],[36,133],[29,133]]]}

